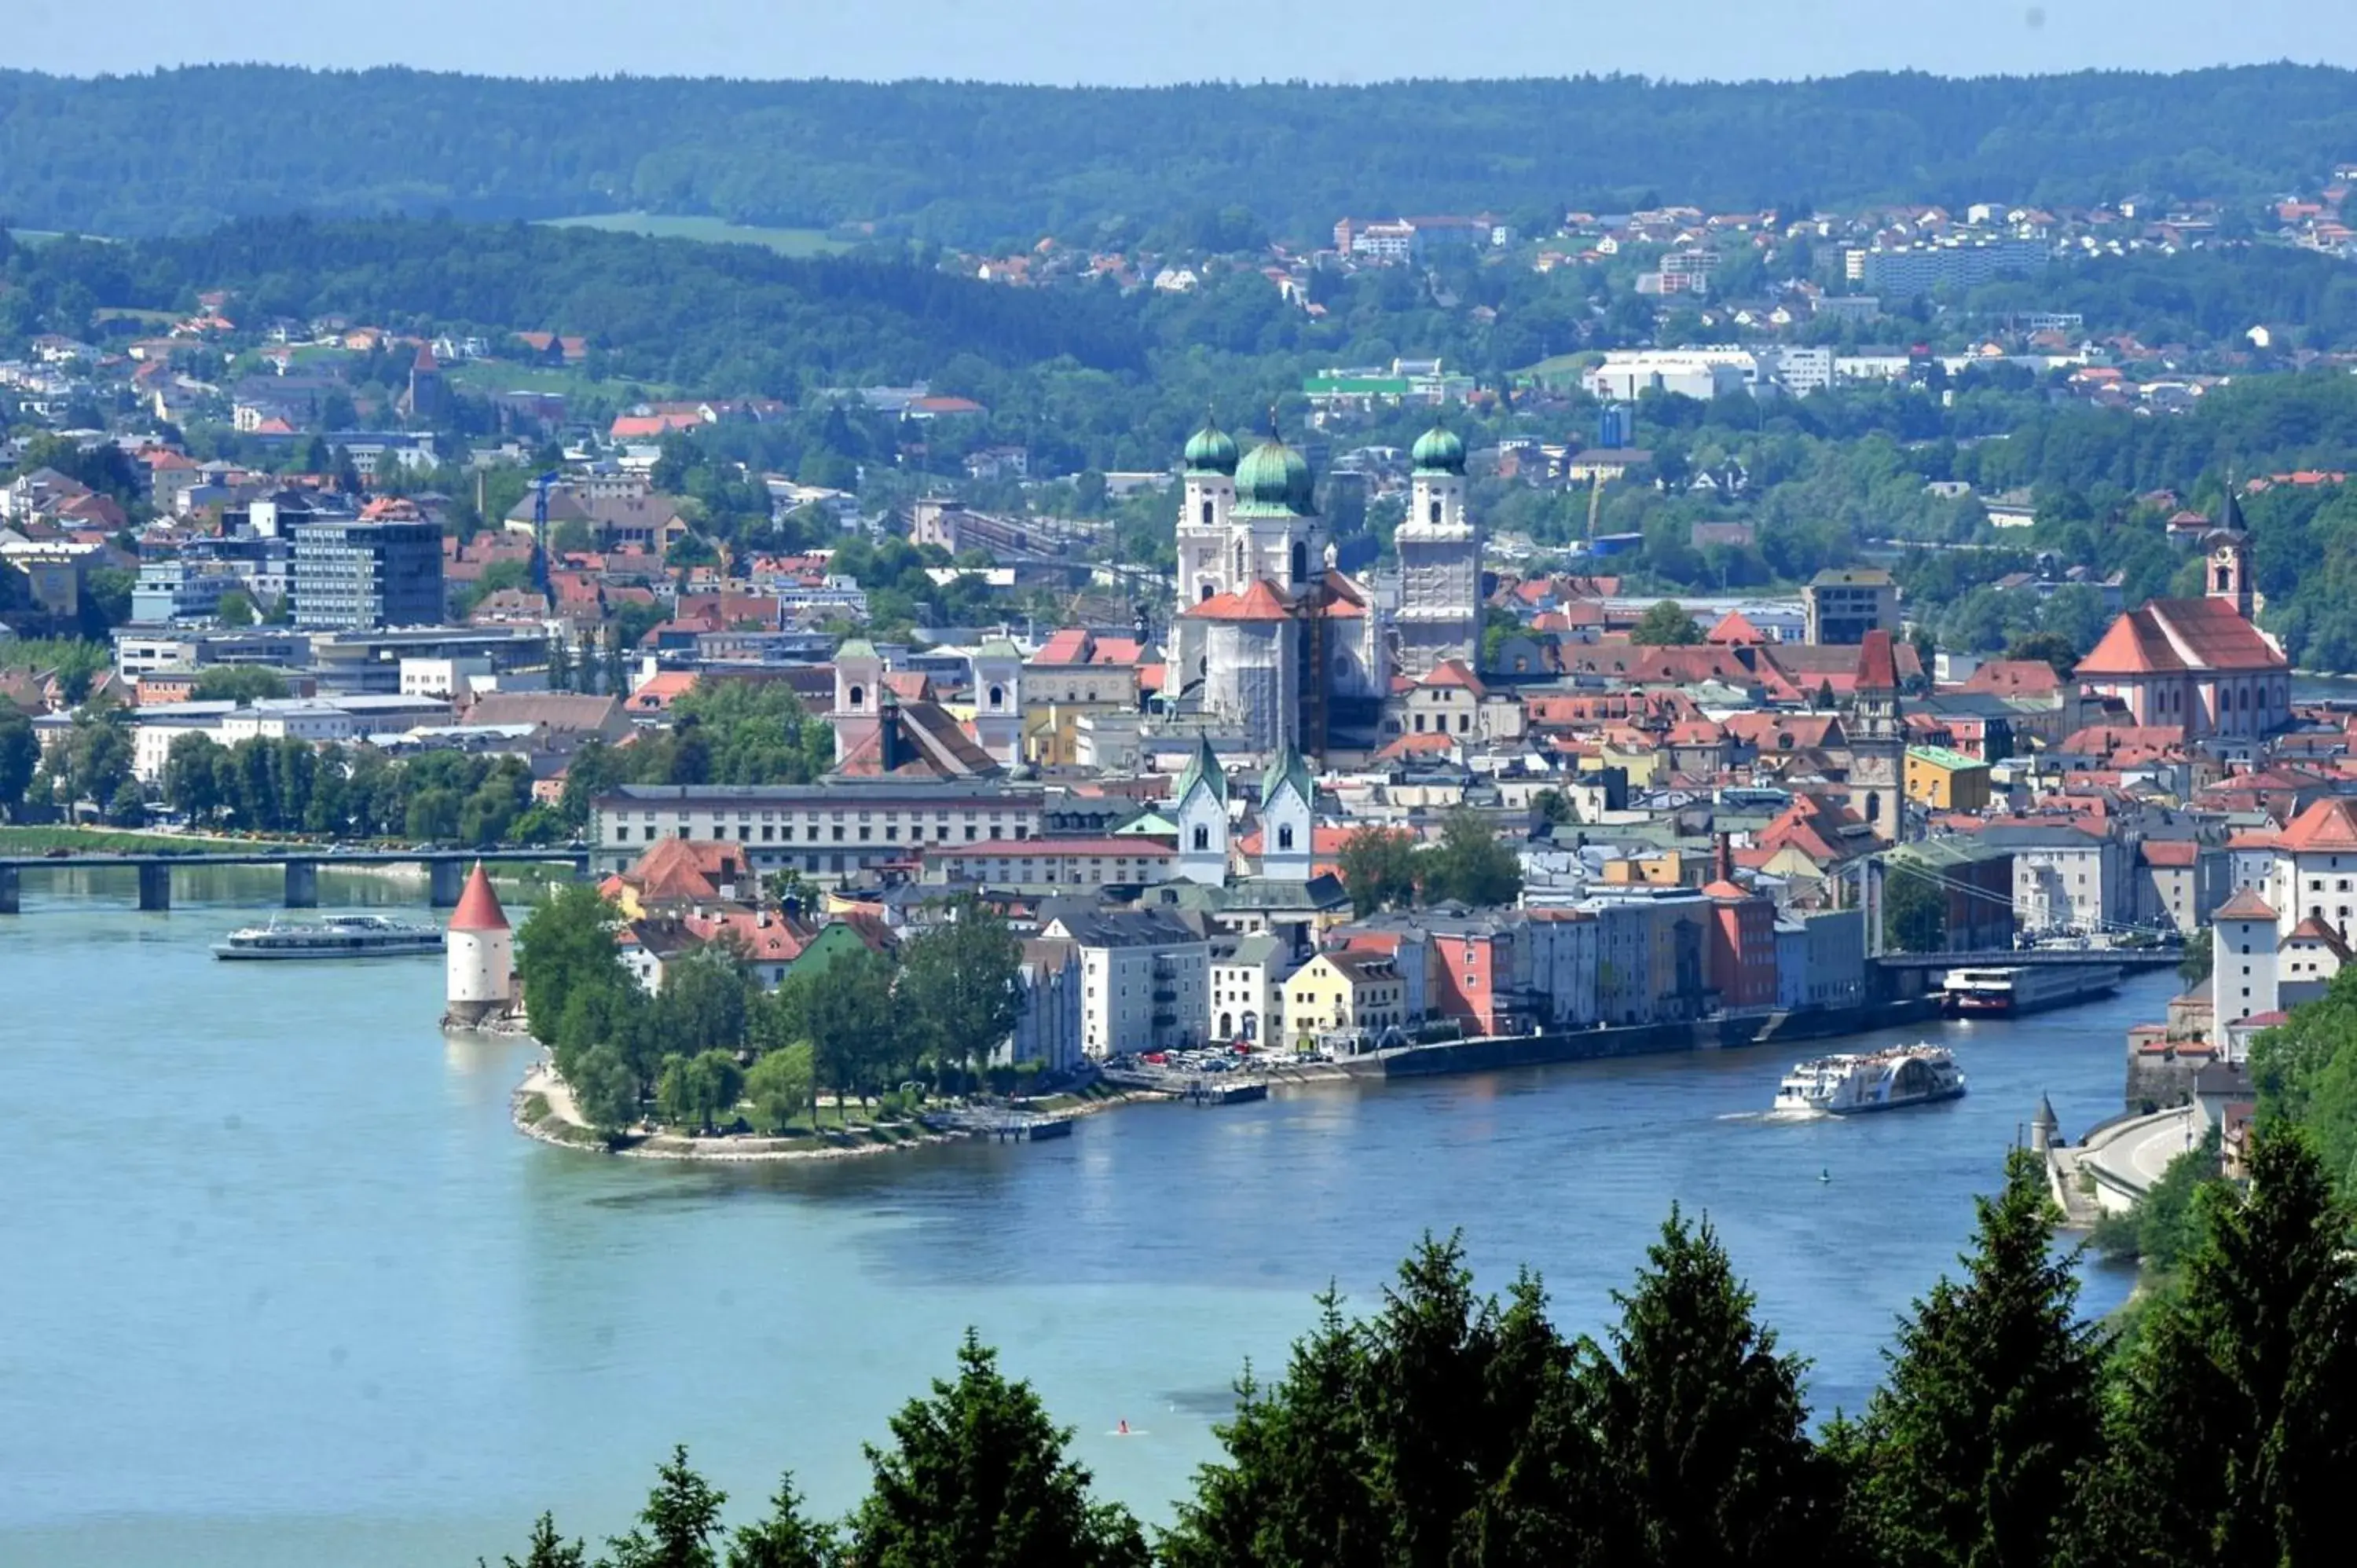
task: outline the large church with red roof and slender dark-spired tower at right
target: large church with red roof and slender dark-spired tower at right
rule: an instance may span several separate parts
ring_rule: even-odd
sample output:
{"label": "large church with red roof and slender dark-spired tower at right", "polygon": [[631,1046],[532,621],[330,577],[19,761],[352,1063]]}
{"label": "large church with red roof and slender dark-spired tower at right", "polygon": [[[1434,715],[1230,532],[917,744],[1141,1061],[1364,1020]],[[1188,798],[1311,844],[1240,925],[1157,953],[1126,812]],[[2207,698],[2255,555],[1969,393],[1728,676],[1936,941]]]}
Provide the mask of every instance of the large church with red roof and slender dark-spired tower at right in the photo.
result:
{"label": "large church with red roof and slender dark-spired tower at right", "polygon": [[2126,703],[2138,726],[2270,736],[2291,724],[2291,660],[2251,620],[2251,545],[2232,495],[2209,535],[2206,571],[2209,597],[2128,611],[2079,660],[2077,679]]}

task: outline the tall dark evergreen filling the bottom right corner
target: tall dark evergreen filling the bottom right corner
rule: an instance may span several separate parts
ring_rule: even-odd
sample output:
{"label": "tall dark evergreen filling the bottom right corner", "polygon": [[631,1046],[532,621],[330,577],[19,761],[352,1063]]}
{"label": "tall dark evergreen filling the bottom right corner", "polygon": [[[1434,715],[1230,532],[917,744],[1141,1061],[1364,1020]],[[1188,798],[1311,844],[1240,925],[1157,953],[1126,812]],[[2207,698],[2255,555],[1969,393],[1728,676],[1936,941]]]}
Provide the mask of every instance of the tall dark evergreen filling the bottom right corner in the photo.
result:
{"label": "tall dark evergreen filling the bottom right corner", "polygon": [[2095,1563],[2333,1563],[2357,1535],[2357,1264],[2308,1139],[2263,1134],[2126,1368]]}

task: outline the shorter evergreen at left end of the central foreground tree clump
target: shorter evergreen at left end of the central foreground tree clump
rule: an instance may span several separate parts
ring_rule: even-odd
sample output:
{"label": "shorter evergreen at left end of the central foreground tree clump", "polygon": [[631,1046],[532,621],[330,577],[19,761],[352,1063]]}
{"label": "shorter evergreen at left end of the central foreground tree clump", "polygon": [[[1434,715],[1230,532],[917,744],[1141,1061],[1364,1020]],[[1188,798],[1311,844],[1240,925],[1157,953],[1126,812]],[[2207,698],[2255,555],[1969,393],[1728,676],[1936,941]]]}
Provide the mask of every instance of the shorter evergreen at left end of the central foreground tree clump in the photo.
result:
{"label": "shorter evergreen at left end of the central foreground tree clump", "polygon": [[1247,1368],[1235,1417],[1219,1429],[1226,1464],[1204,1464],[1195,1497],[1162,1540],[1169,1568],[1318,1563],[1381,1568],[1384,1526],[1367,1481],[1360,1419],[1367,1349],[1341,1297],[1318,1297],[1318,1327],[1294,1342],[1285,1382],[1266,1396]]}

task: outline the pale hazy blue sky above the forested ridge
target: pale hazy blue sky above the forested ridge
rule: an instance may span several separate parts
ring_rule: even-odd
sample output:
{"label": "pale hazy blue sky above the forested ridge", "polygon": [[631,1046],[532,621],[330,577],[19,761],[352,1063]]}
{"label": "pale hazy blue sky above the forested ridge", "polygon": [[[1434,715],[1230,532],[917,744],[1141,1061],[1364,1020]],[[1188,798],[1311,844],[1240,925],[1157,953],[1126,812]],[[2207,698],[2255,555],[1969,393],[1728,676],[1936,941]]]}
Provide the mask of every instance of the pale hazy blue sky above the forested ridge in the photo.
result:
{"label": "pale hazy blue sky above the forested ridge", "polygon": [[2357,64],[2352,0],[5,0],[0,64],[266,59],[502,75],[1952,75]]}

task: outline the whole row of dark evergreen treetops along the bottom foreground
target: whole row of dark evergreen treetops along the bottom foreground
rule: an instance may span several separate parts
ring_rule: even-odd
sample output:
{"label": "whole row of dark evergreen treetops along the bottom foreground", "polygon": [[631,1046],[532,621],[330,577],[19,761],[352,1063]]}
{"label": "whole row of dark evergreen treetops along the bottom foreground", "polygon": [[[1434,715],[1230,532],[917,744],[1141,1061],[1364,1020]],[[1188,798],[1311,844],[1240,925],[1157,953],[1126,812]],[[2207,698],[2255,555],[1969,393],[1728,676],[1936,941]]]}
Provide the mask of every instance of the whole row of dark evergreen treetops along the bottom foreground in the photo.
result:
{"label": "whole row of dark evergreen treetops along the bottom foreground", "polygon": [[[1530,1273],[1504,1299],[1478,1294],[1457,1240],[1426,1238],[1372,1316],[1346,1318],[1329,1290],[1275,1382],[1244,1368],[1223,1457],[1178,1500],[1155,1561],[2338,1561],[2357,1467],[2357,1261],[2312,1151],[2265,1137],[2251,1191],[2204,1198],[2183,1290],[2121,1353],[2077,1318],[2058,1219],[2044,1170],[2015,1155],[1980,1200],[1961,1276],[1902,1320],[1888,1384],[1817,1436],[1805,1365],[1756,1318],[1709,1224],[1671,1212],[1603,1339],[1565,1337]],[[1070,1431],[971,1335],[957,1379],[910,1403],[891,1436],[870,1450],[846,1533],[808,1523],[787,1483],[783,1526],[759,1530],[790,1556],[745,1561],[1148,1561],[1129,1516],[1089,1500]],[[695,1554],[719,1540],[717,1507],[674,1455],[634,1535],[679,1542],[665,1561],[712,1561]],[[549,1521],[542,1544],[561,1547]]]}

